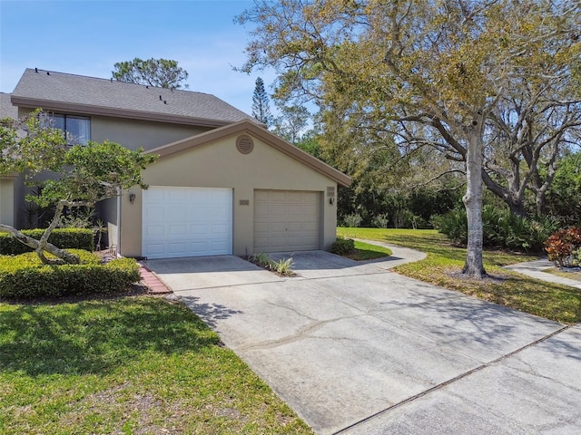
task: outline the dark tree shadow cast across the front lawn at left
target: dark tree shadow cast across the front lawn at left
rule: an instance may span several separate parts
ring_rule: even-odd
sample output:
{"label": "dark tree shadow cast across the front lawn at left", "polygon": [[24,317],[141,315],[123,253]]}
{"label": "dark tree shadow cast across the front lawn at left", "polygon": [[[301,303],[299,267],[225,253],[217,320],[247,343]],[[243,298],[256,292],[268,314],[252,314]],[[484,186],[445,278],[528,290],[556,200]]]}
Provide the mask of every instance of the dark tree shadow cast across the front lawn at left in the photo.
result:
{"label": "dark tree shadow cast across the front lawn at left", "polygon": [[219,343],[186,306],[153,297],[6,304],[0,338],[0,371],[31,376],[111,372],[137,359]]}

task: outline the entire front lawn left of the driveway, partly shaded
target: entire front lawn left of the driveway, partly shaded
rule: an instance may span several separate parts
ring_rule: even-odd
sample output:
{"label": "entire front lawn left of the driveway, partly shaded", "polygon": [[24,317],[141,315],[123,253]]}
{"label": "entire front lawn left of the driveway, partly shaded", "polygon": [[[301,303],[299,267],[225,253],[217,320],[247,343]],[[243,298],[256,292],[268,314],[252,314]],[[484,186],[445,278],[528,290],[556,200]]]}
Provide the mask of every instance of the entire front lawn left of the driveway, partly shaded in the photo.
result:
{"label": "entire front lawn left of the driveway, partly shaded", "polygon": [[312,431],[191,310],[140,296],[0,304],[4,433]]}

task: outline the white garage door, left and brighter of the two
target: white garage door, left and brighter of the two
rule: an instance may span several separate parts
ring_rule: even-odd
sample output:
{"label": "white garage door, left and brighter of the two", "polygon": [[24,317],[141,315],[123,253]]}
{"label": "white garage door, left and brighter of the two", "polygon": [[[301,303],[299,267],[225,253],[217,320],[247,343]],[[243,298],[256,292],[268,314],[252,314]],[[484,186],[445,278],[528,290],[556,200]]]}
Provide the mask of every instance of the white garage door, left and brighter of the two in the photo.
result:
{"label": "white garage door, left and brighter of the two", "polygon": [[231,251],[231,189],[143,190],[143,256],[219,256]]}

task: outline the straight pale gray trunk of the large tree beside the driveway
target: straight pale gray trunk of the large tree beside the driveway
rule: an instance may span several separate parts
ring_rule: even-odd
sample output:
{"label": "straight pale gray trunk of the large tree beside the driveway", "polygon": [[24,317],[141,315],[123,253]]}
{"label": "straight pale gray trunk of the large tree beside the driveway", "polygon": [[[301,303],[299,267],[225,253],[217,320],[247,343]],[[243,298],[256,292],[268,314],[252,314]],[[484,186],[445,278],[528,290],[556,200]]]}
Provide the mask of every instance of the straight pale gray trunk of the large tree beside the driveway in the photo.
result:
{"label": "straight pale gray trunk of the large tree beside the driveway", "polygon": [[462,198],[468,217],[468,247],[462,274],[474,278],[486,275],[482,261],[482,140],[478,126],[468,133],[466,195]]}

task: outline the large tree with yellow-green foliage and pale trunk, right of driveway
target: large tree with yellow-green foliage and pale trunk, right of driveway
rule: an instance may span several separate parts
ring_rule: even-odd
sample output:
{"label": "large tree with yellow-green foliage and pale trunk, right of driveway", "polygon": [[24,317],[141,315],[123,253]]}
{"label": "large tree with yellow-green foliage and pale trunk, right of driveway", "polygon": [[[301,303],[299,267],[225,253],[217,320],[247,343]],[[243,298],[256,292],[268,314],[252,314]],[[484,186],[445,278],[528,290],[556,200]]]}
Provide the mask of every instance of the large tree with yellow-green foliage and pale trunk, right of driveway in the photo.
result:
{"label": "large tree with yellow-green foliage and pale trunk, right of driveway", "polygon": [[464,272],[479,277],[483,180],[516,213],[527,189],[542,203],[579,125],[580,18],[574,1],[282,0],[240,21],[256,24],[244,68],[274,67],[278,95],[315,100],[325,126],[344,125],[339,138],[324,130],[339,153],[429,147],[464,172]]}

